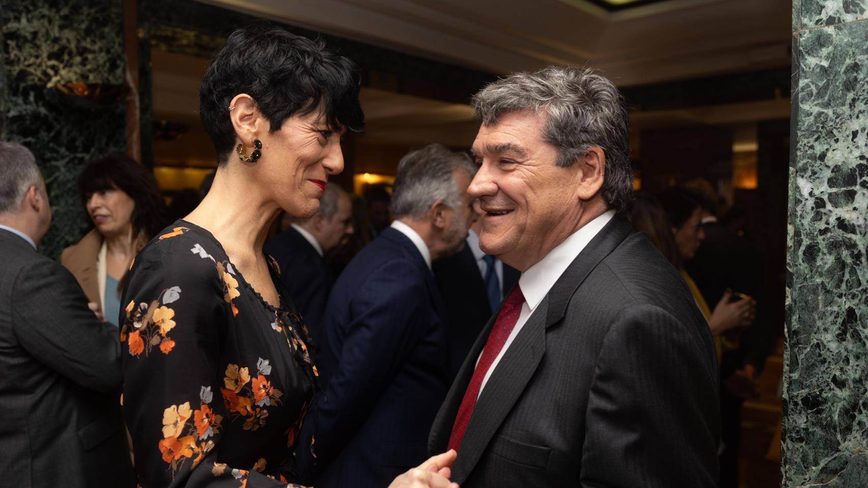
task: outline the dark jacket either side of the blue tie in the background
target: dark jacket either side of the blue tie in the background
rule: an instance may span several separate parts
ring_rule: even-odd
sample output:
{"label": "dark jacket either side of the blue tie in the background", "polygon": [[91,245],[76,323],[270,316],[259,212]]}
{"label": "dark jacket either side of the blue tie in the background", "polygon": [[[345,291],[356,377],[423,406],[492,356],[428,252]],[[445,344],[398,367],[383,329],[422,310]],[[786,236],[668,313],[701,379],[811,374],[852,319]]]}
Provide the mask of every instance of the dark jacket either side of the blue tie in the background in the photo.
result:
{"label": "dark jacket either side of the blue tie in the background", "polygon": [[[502,296],[510,293],[520,276],[521,272],[503,264]],[[488,293],[473,251],[466,244],[457,254],[434,263],[434,277],[449,316],[446,333],[451,356],[451,379],[454,379],[470,347],[491,317]]]}

